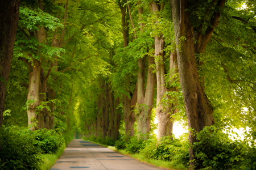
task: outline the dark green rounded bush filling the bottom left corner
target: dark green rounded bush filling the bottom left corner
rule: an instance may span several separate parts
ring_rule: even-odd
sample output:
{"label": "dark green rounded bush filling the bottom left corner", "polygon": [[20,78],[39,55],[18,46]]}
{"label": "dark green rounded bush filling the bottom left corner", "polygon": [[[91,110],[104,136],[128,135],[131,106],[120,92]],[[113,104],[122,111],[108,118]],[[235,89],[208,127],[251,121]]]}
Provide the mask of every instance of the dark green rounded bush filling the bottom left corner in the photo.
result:
{"label": "dark green rounded bush filling the bottom left corner", "polygon": [[0,169],[39,169],[40,150],[31,134],[13,133],[5,127],[0,131]]}

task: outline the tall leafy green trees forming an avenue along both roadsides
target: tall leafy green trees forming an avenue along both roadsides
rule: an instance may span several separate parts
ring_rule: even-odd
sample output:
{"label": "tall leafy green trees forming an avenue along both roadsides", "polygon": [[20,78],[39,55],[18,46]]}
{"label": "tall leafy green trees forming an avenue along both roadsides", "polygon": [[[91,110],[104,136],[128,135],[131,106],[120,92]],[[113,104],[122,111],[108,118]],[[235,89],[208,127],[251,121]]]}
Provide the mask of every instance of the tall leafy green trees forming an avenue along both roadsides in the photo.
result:
{"label": "tall leafy green trees forming an avenue along both roadsides", "polygon": [[[3,0],[0,130],[55,130],[66,144],[76,134],[127,150],[144,141],[147,156],[174,145],[189,155],[175,160],[180,168],[255,169],[255,4]],[[189,130],[182,139],[175,121]],[[249,129],[243,141],[223,132],[234,128]]]}

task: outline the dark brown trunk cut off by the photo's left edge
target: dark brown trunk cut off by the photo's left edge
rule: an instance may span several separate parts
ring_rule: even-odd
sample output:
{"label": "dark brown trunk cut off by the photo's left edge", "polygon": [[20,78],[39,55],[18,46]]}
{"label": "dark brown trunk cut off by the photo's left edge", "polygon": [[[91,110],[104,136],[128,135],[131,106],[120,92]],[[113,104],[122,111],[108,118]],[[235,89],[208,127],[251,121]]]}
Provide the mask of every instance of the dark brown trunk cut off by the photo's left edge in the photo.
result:
{"label": "dark brown trunk cut off by the photo's left edge", "polygon": [[19,20],[20,0],[0,1],[0,127],[3,125],[6,85]]}

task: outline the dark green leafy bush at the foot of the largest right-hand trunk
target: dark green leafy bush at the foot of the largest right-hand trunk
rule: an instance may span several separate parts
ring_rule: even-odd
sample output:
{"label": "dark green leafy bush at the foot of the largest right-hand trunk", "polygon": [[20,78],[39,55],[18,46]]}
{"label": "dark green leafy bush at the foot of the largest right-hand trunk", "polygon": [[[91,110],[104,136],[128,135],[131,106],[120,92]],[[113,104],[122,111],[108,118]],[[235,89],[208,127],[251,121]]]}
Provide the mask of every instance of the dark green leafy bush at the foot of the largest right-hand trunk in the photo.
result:
{"label": "dark green leafy bush at the foot of the largest right-hand trunk", "polygon": [[197,168],[240,169],[247,152],[242,141],[232,141],[214,126],[207,126],[197,133],[197,139],[199,142],[193,145]]}

